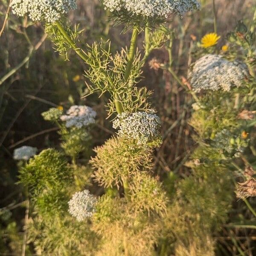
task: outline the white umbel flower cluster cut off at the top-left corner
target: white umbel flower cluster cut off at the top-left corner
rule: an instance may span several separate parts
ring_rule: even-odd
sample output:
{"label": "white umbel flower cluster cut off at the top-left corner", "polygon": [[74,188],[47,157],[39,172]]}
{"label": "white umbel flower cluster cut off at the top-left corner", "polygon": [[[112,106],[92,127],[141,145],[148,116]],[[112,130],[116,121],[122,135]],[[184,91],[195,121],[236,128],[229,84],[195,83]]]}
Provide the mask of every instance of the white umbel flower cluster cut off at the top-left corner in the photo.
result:
{"label": "white umbel flower cluster cut off at the top-left corner", "polygon": [[70,9],[76,9],[76,0],[12,0],[11,5],[17,16],[28,15],[33,21],[54,23]]}

